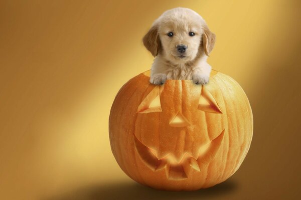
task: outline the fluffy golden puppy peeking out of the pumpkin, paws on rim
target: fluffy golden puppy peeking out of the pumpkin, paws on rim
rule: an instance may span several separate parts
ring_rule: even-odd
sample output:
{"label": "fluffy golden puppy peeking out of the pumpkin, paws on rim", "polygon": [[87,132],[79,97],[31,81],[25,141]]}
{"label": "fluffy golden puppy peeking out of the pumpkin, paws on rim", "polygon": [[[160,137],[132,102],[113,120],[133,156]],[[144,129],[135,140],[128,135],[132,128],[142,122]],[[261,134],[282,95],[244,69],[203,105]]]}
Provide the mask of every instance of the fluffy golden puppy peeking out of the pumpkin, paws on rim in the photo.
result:
{"label": "fluffy golden puppy peeking out of the pumpkin, paws on rim", "polygon": [[155,57],[150,83],[163,84],[166,79],[192,79],[196,84],[209,81],[207,57],[215,34],[194,10],[177,7],[165,11],[142,40]]}

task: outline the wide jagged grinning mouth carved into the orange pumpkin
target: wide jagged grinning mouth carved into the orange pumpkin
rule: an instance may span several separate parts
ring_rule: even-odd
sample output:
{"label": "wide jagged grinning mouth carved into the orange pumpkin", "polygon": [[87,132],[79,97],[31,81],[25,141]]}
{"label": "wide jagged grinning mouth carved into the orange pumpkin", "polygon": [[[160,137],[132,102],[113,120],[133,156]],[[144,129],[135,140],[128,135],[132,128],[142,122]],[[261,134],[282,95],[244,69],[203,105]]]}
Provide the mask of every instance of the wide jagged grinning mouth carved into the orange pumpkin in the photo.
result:
{"label": "wide jagged grinning mouth carved into the orange pumpkin", "polygon": [[147,147],[134,134],[136,151],[143,162],[153,171],[166,170],[168,179],[185,179],[192,170],[201,172],[200,166],[210,162],[220,147],[224,137],[225,129],[209,143],[200,146],[198,156],[191,157],[188,153],[184,153],[181,160],[177,161],[170,153],[165,157],[158,159],[155,149]]}

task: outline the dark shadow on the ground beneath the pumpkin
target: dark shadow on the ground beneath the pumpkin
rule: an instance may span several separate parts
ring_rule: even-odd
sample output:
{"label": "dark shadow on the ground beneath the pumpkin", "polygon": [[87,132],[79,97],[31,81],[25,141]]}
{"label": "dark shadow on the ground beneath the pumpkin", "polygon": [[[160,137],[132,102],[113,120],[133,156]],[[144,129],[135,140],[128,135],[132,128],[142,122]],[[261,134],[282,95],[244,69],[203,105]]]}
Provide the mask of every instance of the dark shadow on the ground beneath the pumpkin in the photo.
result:
{"label": "dark shadow on the ground beneath the pumpkin", "polygon": [[80,188],[77,191],[53,196],[46,200],[98,200],[98,199],[204,199],[224,196],[238,189],[238,184],[227,180],[213,187],[196,191],[164,191],[136,182],[109,183]]}

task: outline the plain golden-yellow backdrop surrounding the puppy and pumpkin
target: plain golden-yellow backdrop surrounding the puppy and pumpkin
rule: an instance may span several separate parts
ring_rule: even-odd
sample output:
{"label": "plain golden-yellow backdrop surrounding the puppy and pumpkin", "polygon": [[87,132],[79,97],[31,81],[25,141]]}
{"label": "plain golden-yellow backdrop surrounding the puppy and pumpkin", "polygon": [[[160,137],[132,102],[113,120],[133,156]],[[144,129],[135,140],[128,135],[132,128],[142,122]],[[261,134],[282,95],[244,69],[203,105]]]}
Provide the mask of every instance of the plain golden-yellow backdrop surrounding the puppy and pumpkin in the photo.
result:
{"label": "plain golden-yellow backdrop surrounding the puppy and pumpkin", "polygon": [[[0,1],[0,199],[300,199],[299,0]],[[208,62],[249,97],[254,137],[226,182],[194,192],[141,186],[117,165],[108,116],[152,65],[142,37],[165,10],[199,12]]]}

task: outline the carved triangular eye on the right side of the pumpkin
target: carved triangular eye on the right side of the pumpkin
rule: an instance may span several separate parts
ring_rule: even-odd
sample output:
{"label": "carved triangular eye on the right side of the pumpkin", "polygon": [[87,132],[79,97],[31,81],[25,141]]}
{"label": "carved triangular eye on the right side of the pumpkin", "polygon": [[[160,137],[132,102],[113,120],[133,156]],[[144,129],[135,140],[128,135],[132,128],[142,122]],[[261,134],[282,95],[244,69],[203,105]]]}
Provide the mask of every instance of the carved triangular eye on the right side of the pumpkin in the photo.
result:
{"label": "carved triangular eye on the right side of the pumpkin", "polygon": [[222,110],[217,104],[215,98],[207,89],[205,89],[204,85],[202,86],[198,109],[206,112],[222,113]]}

